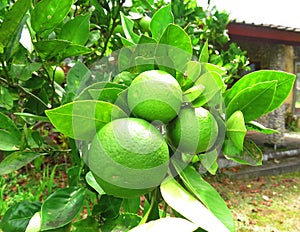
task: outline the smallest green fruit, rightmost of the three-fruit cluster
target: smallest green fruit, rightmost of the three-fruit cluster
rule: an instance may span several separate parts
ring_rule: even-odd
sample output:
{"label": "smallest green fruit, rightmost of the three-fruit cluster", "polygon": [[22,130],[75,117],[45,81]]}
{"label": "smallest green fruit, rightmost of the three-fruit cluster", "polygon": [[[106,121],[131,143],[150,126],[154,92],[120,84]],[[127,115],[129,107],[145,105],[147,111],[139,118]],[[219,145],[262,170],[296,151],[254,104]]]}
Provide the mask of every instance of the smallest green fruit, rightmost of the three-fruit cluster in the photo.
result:
{"label": "smallest green fruit, rightmost of the three-fruit cluster", "polygon": [[171,144],[189,154],[207,151],[218,137],[217,121],[202,107],[183,108],[167,130]]}

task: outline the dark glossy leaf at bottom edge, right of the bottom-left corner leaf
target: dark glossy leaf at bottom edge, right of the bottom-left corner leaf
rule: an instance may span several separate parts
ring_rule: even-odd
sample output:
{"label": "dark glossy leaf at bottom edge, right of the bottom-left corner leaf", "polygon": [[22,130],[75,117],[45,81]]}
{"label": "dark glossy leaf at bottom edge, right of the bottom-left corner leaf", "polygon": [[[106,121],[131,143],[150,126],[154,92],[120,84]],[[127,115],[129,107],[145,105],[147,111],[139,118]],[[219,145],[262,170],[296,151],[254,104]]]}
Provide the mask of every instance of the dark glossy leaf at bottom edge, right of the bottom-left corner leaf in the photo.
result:
{"label": "dark glossy leaf at bottom edge, right of the bottom-left corner leaf", "polygon": [[57,189],[43,203],[42,230],[56,229],[69,224],[83,207],[85,190],[78,187]]}

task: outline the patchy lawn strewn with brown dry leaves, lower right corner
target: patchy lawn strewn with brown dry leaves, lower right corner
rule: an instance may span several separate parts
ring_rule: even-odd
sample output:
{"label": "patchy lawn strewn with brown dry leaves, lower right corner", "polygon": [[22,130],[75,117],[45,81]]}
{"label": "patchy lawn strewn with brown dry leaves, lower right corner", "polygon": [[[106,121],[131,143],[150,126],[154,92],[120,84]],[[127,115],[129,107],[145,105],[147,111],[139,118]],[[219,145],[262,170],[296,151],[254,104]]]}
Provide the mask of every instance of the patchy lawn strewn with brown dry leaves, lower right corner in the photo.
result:
{"label": "patchy lawn strewn with brown dry leaves, lower right corner", "polygon": [[300,172],[249,180],[210,179],[226,200],[236,231],[300,231]]}

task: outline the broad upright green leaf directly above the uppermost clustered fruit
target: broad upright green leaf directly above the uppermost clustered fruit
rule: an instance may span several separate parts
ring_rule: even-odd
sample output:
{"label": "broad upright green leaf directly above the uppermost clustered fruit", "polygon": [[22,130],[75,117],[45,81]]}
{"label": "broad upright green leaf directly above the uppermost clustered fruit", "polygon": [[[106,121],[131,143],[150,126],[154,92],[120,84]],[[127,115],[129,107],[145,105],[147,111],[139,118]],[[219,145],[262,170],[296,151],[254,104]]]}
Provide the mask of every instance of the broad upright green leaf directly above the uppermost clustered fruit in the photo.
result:
{"label": "broad upright green leaf directly above the uppermost clustered fruit", "polygon": [[189,35],[180,26],[169,24],[159,40],[155,58],[159,66],[182,71],[185,64],[190,61],[192,52]]}

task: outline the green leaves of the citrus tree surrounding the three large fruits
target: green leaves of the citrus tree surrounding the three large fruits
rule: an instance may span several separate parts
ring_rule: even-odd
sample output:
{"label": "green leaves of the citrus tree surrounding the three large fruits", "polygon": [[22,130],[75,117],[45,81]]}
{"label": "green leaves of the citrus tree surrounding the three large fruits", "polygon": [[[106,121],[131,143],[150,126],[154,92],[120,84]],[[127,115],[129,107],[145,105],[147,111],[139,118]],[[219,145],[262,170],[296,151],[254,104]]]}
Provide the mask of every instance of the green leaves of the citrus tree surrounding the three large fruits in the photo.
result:
{"label": "green leaves of the citrus tree surrounding the three large fruits", "polygon": [[[236,45],[217,52],[228,42],[227,14],[213,9],[207,15],[195,1],[133,1],[131,8],[124,4],[0,4],[0,174],[33,160],[38,170],[38,160],[56,153],[68,152],[71,160],[69,186],[54,192],[50,188],[43,202],[13,205],[2,218],[4,231],[142,231],[149,222],[165,226],[167,216],[180,218],[171,220],[191,231],[234,231],[226,204],[197,167],[215,173],[220,151],[236,162],[260,165],[262,153],[244,140],[246,129],[272,132],[253,120],[282,104],[295,77],[261,71],[232,85],[247,60]],[[146,13],[151,21],[142,27],[138,22]],[[61,85],[55,82],[53,66],[65,71]],[[140,198],[105,194],[86,164],[86,153],[101,127],[130,115],[126,99],[131,81],[154,69],[176,78],[184,92],[183,105],[205,107],[214,115],[219,135],[207,153],[183,154],[170,146],[169,175],[144,196],[140,211]],[[90,195],[97,201],[90,201]],[[82,219],[84,207],[88,217]]]}

